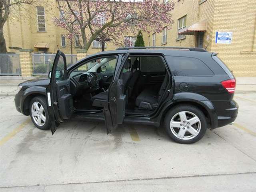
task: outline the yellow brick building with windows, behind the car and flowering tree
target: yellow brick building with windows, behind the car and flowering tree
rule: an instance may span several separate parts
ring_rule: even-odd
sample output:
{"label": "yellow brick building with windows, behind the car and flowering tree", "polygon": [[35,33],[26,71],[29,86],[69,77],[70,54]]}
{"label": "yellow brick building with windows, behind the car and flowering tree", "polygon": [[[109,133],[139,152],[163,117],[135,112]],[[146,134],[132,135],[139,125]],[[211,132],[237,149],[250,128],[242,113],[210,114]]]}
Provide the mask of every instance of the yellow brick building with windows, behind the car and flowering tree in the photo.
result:
{"label": "yellow brick building with windows, behind the car and flowering tree", "polygon": [[[55,53],[60,49],[70,54],[71,42],[64,38],[64,29],[52,22],[53,16],[60,16],[56,0],[36,1],[37,6],[24,5],[24,10],[11,15],[5,24],[8,51],[22,48]],[[143,33],[146,46],[206,48],[218,52],[236,76],[256,76],[256,0],[174,1],[172,28],[164,28],[162,33]],[[136,40],[133,34],[126,38]],[[108,42],[106,50],[113,49],[116,46]],[[73,41],[72,53],[77,50]],[[99,51],[100,44],[94,41],[87,54]]]}

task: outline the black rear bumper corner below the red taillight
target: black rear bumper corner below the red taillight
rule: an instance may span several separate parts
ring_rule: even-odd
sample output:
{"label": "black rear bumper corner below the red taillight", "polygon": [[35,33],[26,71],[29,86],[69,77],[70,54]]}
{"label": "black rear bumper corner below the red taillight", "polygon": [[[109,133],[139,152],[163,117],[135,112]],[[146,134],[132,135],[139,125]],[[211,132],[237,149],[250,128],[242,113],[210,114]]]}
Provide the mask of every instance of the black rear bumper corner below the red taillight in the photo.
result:
{"label": "black rear bumper corner below the red taillight", "polygon": [[217,127],[222,127],[228,124],[232,124],[237,117],[238,114],[238,104],[232,100],[228,104],[228,108],[222,110],[222,112],[218,113],[218,126]]}

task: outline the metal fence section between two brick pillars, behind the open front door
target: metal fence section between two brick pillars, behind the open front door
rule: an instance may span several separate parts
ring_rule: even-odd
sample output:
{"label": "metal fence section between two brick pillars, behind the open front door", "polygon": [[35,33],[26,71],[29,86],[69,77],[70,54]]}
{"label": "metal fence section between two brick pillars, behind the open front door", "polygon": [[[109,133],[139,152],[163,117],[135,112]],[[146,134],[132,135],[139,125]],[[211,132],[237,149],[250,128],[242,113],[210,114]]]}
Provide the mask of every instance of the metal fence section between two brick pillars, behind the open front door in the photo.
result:
{"label": "metal fence section between two brick pillars, behind the open front door", "polygon": [[[73,65],[77,61],[76,55],[65,54],[67,66]],[[44,75],[52,70],[55,54],[32,54],[33,74]]]}

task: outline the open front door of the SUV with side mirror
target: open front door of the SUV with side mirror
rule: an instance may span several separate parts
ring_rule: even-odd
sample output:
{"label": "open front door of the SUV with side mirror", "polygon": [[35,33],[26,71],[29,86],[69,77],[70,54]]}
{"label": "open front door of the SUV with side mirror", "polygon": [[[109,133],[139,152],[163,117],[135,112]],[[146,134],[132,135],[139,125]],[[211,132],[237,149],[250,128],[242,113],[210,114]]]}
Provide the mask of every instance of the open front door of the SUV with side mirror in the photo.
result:
{"label": "open front door of the SUV with side mirror", "polygon": [[48,113],[52,134],[61,122],[69,119],[73,112],[73,98],[70,94],[70,80],[67,74],[66,56],[57,51],[50,72],[50,84],[46,88]]}

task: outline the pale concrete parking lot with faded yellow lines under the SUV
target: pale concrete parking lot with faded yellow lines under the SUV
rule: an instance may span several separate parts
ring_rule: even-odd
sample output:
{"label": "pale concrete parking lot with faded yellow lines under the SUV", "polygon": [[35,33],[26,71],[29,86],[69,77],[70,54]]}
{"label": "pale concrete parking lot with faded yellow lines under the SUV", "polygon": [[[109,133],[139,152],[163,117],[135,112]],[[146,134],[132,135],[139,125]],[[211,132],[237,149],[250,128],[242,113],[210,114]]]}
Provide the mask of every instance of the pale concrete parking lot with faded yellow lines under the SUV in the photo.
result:
{"label": "pale concrete parking lot with faded yellow lines under the SUV", "polygon": [[162,127],[70,120],[52,136],[0,97],[0,191],[256,191],[256,94],[233,125],[191,145]]}

